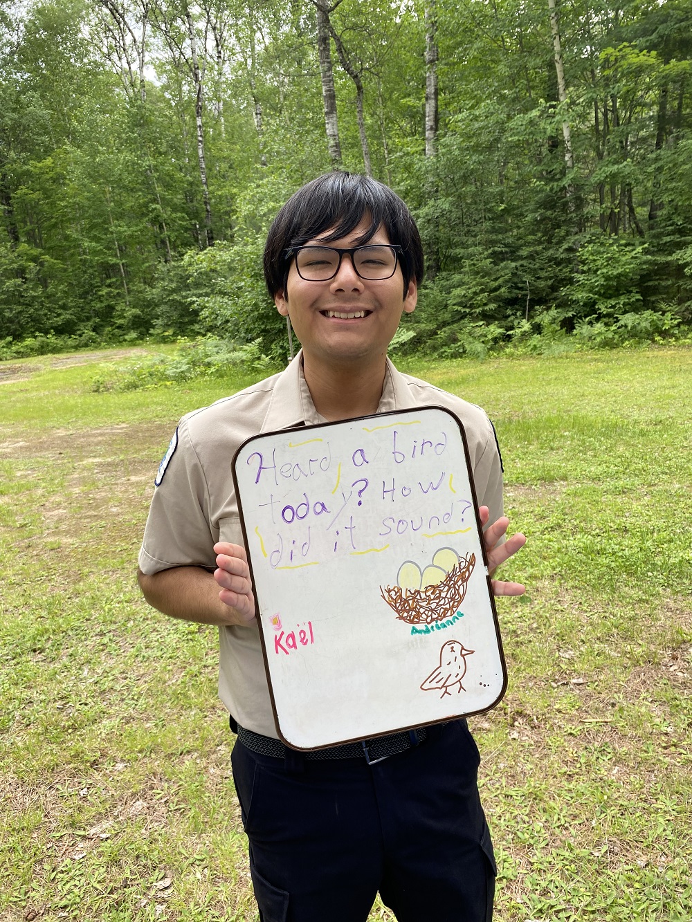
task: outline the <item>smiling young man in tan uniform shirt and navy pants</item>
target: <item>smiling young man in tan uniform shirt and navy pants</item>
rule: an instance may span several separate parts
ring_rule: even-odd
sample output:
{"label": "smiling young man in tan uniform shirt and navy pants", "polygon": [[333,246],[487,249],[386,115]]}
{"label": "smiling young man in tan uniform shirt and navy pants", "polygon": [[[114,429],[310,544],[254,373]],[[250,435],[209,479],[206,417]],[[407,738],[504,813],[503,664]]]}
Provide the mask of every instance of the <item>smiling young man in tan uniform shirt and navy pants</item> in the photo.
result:
{"label": "smiling young man in tan uniform shirt and navy pants", "polygon": [[480,408],[388,361],[401,314],[415,308],[423,251],[386,186],[347,172],[307,183],[269,231],[265,278],[303,349],[284,372],[181,420],[156,478],[142,591],[166,614],[219,625],[220,695],[238,732],[233,776],[264,922],[364,922],[377,891],[400,922],[483,922],[495,859],[465,720],[369,741],[373,761],[358,744],[304,754],[280,743],[231,459],[258,432],[450,408],[466,430],[483,523],[493,523],[485,541],[494,569],[524,538],[503,543],[493,427]]}

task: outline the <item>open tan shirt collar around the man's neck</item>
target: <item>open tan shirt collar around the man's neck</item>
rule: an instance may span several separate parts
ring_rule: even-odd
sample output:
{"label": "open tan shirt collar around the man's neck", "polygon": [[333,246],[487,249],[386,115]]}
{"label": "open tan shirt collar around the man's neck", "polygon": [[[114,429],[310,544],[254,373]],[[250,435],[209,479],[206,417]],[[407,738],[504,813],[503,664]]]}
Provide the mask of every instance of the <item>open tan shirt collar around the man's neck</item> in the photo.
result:
{"label": "open tan shirt collar around the man's neck", "polygon": [[[378,413],[415,407],[411,390],[404,376],[387,360],[382,396]],[[261,432],[290,429],[292,426],[314,426],[326,422],[317,413],[303,374],[303,349],[289,366],[280,373],[269,400],[267,415]]]}

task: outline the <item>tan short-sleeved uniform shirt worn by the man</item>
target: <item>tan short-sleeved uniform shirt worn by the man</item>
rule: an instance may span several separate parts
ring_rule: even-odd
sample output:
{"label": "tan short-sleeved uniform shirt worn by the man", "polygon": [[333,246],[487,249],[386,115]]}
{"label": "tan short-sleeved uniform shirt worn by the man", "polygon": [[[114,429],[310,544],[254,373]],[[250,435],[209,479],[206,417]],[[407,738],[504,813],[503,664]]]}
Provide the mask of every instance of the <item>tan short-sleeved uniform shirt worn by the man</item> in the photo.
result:
{"label": "tan short-sleeved uniform shirt worn by the man", "polygon": [[[377,412],[431,404],[452,410],[463,423],[478,502],[490,507],[495,522],[502,514],[502,470],[490,420],[481,408],[401,374],[388,360]],[[142,572],[191,564],[215,569],[217,541],[243,544],[231,473],[239,445],[262,432],[324,421],[305,384],[300,352],[280,374],[184,416],[173,455],[170,449],[157,476],[139,552]],[[221,627],[219,636],[221,701],[241,726],[276,738],[257,621]]]}

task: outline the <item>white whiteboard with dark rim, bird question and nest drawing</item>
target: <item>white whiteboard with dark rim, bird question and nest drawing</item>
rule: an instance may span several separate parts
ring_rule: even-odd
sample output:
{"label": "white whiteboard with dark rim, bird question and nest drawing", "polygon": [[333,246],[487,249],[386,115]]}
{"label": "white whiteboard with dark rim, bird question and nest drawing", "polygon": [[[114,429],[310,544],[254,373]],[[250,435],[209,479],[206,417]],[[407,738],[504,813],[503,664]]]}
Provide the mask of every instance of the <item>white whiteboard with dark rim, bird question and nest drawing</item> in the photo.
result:
{"label": "white whiteboard with dark rim, bird question and nest drawing", "polygon": [[477,714],[502,698],[469,471],[463,427],[439,407],[239,448],[233,479],[269,692],[292,748]]}

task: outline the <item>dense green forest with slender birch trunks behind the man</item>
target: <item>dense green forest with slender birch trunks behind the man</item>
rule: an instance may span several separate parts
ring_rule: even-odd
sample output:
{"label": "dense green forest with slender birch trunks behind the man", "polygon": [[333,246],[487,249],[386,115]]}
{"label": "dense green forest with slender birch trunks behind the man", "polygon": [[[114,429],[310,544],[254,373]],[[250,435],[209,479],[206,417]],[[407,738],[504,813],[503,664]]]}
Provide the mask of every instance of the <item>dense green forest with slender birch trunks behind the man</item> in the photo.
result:
{"label": "dense green forest with slender birch trunks behind the man", "polygon": [[343,167],[427,274],[394,349],[689,337],[690,0],[0,0],[0,358],[287,350],[268,223]]}

